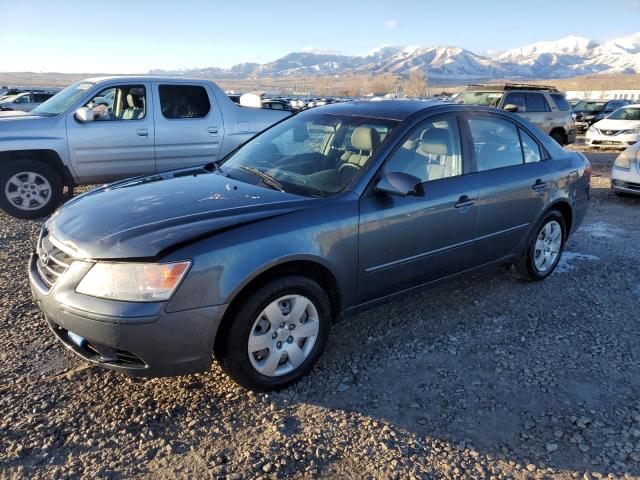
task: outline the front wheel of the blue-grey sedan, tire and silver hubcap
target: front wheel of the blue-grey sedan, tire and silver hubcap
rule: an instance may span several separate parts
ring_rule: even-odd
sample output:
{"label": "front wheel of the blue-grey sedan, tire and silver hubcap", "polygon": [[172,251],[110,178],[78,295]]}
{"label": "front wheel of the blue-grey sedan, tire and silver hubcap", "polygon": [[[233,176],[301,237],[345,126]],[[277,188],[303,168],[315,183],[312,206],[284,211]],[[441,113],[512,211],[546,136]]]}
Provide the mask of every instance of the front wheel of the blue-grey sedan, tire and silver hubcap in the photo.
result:
{"label": "front wheel of the blue-grey sedan, tire and silver hubcap", "polygon": [[[285,388],[308,374],[331,327],[327,294],[302,276],[269,282],[230,313],[218,332],[216,357],[229,377],[258,392]],[[315,335],[305,336],[310,332]]]}

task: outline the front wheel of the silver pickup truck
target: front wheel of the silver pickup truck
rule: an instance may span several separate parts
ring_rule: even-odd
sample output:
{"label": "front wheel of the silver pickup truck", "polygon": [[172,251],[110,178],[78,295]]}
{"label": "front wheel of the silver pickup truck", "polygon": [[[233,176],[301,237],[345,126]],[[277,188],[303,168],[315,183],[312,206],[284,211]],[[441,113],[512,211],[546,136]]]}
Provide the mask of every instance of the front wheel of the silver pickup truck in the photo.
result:
{"label": "front wheel of the silver pickup truck", "polygon": [[16,218],[49,215],[62,199],[60,175],[35,160],[16,160],[0,169],[0,208]]}

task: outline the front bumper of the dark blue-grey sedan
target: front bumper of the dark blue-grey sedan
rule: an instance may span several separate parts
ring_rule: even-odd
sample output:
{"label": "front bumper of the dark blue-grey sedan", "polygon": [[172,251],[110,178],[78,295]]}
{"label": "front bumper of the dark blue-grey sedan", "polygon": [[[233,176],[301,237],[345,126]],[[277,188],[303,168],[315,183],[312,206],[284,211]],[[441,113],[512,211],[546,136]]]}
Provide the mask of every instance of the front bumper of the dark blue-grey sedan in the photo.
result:
{"label": "front bumper of the dark blue-grey sedan", "polygon": [[141,377],[186,375],[210,368],[226,305],[167,312],[167,302],[119,302],[81,295],[75,292],[85,268],[81,262],[78,267],[72,264],[49,289],[38,273],[37,259],[34,253],[29,262],[36,303],[56,337],[83,359]]}

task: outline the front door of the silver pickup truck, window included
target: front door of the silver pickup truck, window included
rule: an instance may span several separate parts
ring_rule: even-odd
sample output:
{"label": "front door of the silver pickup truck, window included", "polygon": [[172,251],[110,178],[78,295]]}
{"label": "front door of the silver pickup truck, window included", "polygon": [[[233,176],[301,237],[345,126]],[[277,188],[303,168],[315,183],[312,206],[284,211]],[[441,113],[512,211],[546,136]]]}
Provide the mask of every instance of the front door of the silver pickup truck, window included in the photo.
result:
{"label": "front door of the silver pickup truck, window included", "polygon": [[93,99],[111,93],[108,113],[80,122],[67,114],[67,143],[73,171],[81,183],[105,182],[155,172],[153,105],[146,82],[105,86],[84,105],[100,107]]}

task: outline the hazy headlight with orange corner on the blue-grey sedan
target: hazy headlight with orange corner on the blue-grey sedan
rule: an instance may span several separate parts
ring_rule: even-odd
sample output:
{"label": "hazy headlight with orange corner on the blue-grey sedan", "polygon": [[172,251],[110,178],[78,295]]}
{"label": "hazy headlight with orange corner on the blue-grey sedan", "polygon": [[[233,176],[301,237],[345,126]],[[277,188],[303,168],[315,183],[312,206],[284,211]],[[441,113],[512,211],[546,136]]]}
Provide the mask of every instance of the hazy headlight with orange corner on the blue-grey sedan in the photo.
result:
{"label": "hazy headlight with orange corner on the blue-grey sedan", "polygon": [[127,302],[158,302],[171,297],[191,266],[175,263],[98,262],[83,277],[76,292]]}

